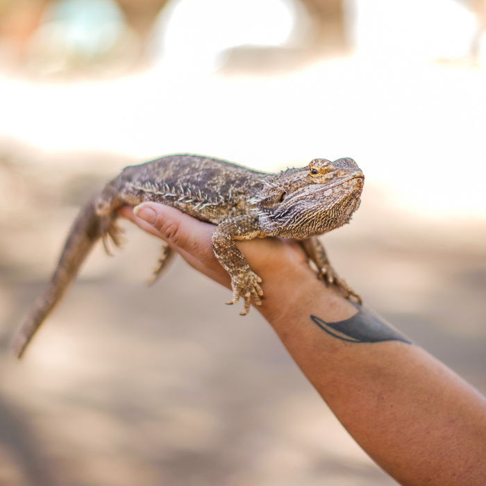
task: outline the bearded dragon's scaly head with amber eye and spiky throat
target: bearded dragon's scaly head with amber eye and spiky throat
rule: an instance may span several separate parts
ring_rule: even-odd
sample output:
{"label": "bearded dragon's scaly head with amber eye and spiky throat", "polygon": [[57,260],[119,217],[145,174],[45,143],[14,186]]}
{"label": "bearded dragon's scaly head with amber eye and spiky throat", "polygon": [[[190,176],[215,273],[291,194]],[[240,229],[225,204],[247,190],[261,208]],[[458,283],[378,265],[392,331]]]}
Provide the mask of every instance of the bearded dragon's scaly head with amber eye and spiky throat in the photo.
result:
{"label": "bearded dragon's scaly head with amber eye and spiky throat", "polygon": [[363,182],[353,159],[317,158],[268,176],[251,203],[267,235],[303,239],[347,223],[360,205]]}

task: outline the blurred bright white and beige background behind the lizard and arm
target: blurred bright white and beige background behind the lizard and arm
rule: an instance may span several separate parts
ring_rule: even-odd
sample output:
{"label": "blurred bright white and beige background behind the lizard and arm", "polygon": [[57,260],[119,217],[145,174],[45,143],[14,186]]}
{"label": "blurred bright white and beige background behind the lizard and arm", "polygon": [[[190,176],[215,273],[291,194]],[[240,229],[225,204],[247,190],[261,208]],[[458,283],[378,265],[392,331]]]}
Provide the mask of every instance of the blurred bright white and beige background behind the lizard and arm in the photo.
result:
{"label": "blurred bright white and beige background behind the lizard and arm", "polygon": [[0,0],[0,484],[392,485],[257,312],[128,223],[25,359],[13,333],[125,165],[351,156],[323,237],[364,301],[486,392],[486,1]]}

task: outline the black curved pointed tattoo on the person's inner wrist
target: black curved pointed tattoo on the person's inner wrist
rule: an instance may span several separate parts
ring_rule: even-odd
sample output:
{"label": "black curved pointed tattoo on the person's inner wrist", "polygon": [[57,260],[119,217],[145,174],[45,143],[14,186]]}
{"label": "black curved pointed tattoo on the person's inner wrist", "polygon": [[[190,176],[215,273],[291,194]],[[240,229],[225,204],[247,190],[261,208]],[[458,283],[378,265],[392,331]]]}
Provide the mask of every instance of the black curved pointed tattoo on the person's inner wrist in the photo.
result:
{"label": "black curved pointed tattoo on the person's inner wrist", "polygon": [[349,319],[339,322],[326,322],[314,315],[310,316],[312,322],[317,324],[322,330],[338,340],[347,342],[383,342],[383,341],[401,341],[412,344],[405,339],[394,328],[389,327],[385,321],[378,319],[368,310],[360,305],[355,305],[358,314],[351,316]]}

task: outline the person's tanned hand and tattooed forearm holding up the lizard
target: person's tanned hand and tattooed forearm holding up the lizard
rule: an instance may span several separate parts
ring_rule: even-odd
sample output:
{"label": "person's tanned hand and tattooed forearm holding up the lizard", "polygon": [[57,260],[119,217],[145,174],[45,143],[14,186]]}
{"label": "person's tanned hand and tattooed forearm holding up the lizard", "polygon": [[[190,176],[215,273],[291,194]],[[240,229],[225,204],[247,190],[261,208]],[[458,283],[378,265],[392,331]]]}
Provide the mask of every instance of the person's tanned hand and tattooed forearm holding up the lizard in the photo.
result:
{"label": "person's tanned hand and tattooed forearm holding up the lizard", "polygon": [[[212,252],[212,225],[160,204],[135,212],[121,209],[192,267],[231,286]],[[403,485],[485,485],[486,400],[476,389],[344,290],[322,285],[297,242],[238,246],[264,282],[258,310],[380,467]]]}

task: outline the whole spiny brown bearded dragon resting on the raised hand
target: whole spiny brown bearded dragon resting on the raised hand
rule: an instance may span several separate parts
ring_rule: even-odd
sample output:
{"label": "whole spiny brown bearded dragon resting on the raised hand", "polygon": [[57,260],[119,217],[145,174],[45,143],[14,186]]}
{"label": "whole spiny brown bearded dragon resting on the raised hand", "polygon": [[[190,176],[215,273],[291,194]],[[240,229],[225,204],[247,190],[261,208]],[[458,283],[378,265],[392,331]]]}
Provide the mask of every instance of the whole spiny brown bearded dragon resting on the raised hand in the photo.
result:
{"label": "whole spiny brown bearded dragon resting on the raised hand", "polygon": [[[156,201],[177,208],[201,221],[217,225],[212,248],[231,276],[233,300],[244,301],[241,315],[251,302],[261,304],[261,278],[237,248],[239,240],[267,236],[301,241],[308,257],[327,285],[340,287],[346,296],[358,294],[335,273],[317,235],[347,223],[358,209],[364,176],[351,158],[334,162],[312,160],[299,169],[277,174],[255,171],[226,160],[177,154],[126,167],[99,196],[88,201],[76,217],[49,285],[37,299],[14,342],[21,357],[28,342],[74,280],[79,267],[101,238],[119,246],[117,210]],[[171,249],[163,245],[154,279],[164,269]]]}

